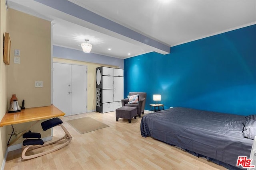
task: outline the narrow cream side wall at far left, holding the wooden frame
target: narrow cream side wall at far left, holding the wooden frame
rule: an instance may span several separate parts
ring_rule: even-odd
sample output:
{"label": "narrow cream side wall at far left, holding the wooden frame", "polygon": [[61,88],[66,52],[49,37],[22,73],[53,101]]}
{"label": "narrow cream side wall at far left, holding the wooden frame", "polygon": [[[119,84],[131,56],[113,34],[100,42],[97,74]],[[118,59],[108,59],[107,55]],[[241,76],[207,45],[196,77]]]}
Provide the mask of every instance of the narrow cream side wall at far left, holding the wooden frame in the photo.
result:
{"label": "narrow cream side wall at far left, holding the wooden frame", "polygon": [[[8,13],[5,8],[5,1],[0,0],[0,119],[4,117],[7,111],[7,66],[3,62],[3,41],[4,33],[7,30]],[[7,132],[6,127],[0,127],[0,168],[4,160],[4,154],[7,149]]]}

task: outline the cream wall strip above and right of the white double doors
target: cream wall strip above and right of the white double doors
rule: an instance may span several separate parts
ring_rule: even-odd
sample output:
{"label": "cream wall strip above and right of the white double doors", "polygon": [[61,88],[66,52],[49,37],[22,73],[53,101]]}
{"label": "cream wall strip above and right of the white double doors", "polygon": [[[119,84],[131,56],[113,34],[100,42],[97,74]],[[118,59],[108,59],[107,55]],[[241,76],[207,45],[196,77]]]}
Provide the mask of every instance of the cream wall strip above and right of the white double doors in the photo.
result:
{"label": "cream wall strip above and right of the white double doors", "polygon": [[96,110],[96,68],[100,66],[118,68],[118,66],[87,63],[66,59],[53,58],[54,63],[85,65],[87,68],[87,112]]}

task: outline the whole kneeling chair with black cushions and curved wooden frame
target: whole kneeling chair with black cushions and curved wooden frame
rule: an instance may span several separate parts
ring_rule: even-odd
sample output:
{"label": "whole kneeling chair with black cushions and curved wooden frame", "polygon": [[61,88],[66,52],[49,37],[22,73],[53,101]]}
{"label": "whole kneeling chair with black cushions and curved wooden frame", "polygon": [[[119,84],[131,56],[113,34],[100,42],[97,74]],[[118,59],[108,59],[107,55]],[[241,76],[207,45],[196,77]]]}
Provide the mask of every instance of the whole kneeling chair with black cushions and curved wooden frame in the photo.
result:
{"label": "whole kneeling chair with black cushions and curved wooden frame", "polygon": [[[63,131],[65,132],[64,137],[61,137],[60,139],[57,139],[57,140],[52,141],[52,142],[49,141],[49,142],[44,143],[44,141],[42,139],[40,139],[41,138],[40,133],[34,133],[34,132],[24,133],[23,138],[26,138],[26,139],[23,141],[23,145],[22,145],[23,150],[22,150],[21,157],[23,159],[36,158],[38,156],[42,156],[42,155],[54,152],[58,149],[61,149],[61,148],[65,147],[66,145],[68,145],[68,143],[70,143],[72,137],[71,137],[70,133],[68,133],[67,129],[62,125],[62,123],[63,123],[62,120],[60,120],[60,118],[58,118],[58,117],[55,117],[53,119],[49,119],[49,120],[44,121],[44,122],[41,123],[42,129],[44,131],[46,131],[47,129],[50,129],[52,127],[55,127],[55,126],[60,126],[60,127],[62,127]],[[37,138],[37,139],[33,139],[33,138]],[[58,147],[56,147],[52,150],[48,150],[48,151],[45,151],[45,152],[32,154],[32,155],[28,155],[28,156],[25,155],[28,150],[32,150],[32,149],[36,149],[36,148],[40,148],[40,147],[45,147],[45,146],[48,146],[48,145],[52,145],[54,143],[62,141],[62,139],[65,140],[65,143],[63,143],[62,145],[60,145],[60,146],[58,146]]]}

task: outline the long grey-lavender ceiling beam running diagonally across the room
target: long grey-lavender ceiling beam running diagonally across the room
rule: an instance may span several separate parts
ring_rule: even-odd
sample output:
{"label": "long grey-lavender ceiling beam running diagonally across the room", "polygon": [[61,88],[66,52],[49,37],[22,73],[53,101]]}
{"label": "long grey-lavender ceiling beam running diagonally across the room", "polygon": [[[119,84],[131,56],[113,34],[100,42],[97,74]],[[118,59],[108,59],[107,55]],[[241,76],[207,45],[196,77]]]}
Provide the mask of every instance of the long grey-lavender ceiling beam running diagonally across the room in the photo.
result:
{"label": "long grey-lavender ceiling beam running diagonally across the room", "polygon": [[[95,31],[99,31],[105,33],[107,35],[122,39],[124,41],[140,44],[140,45],[148,45],[152,48],[153,51],[161,54],[170,53],[170,47],[163,43],[160,43],[154,39],[146,37],[132,29],[124,27],[114,21],[108,20],[98,14],[95,14],[81,6],[78,6],[68,0],[35,0],[41,4],[44,4],[48,7],[54,8],[58,11],[64,12],[70,16],[79,18],[80,20],[92,23],[93,25],[97,25],[101,28],[97,28],[94,26]],[[72,21],[74,23],[74,20]],[[76,23],[81,25],[79,23]],[[82,25],[84,26],[84,25]],[[92,28],[92,25],[91,25]],[[104,29],[102,29],[104,28]],[[105,30],[105,31],[104,31]]]}

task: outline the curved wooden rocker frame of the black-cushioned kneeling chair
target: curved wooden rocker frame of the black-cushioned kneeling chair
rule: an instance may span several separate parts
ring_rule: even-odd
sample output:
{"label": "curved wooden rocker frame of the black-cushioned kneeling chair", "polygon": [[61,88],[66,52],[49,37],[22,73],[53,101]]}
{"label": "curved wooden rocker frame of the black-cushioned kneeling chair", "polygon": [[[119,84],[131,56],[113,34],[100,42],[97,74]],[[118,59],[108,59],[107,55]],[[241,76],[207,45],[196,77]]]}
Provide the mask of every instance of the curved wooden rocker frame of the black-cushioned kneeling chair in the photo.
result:
{"label": "curved wooden rocker frame of the black-cushioned kneeling chair", "polygon": [[[27,146],[24,146],[22,145],[22,154],[21,154],[21,157],[23,159],[32,159],[32,158],[36,158],[36,157],[39,157],[39,156],[43,156],[45,154],[48,154],[48,153],[51,153],[51,152],[54,152],[56,150],[59,150],[63,147],[65,147],[66,145],[68,145],[68,143],[70,143],[70,141],[72,140],[72,137],[70,135],[70,133],[68,132],[68,130],[62,125],[62,124],[59,124],[57,126],[60,126],[63,131],[65,132],[65,135],[64,137],[61,137],[59,139],[56,139],[55,141],[49,141],[49,142],[46,142],[44,143],[44,145],[27,145]],[[56,126],[55,126],[56,127]],[[45,151],[45,152],[41,152],[41,153],[37,153],[37,154],[32,154],[32,155],[26,155],[26,152],[28,150],[32,150],[32,149],[36,149],[36,148],[41,148],[41,147],[45,147],[45,146],[48,146],[48,145],[52,145],[54,143],[58,143],[60,141],[62,141],[62,139],[64,139],[66,142],[63,143],[62,145],[52,149],[52,150],[48,150],[48,151]]]}

